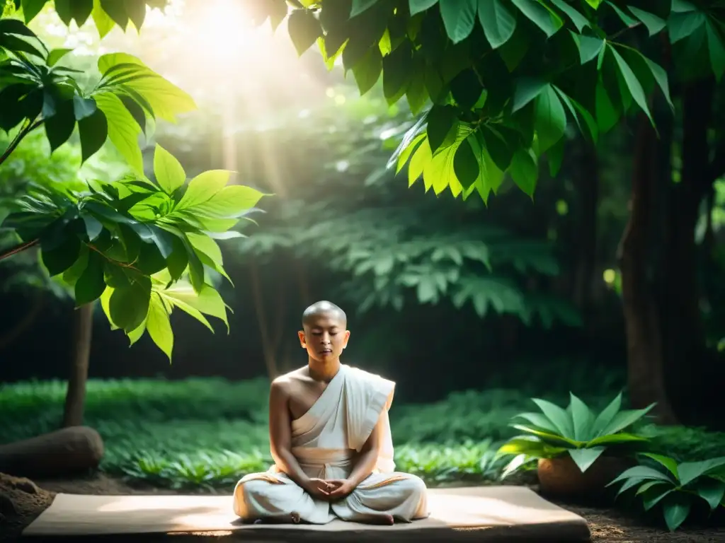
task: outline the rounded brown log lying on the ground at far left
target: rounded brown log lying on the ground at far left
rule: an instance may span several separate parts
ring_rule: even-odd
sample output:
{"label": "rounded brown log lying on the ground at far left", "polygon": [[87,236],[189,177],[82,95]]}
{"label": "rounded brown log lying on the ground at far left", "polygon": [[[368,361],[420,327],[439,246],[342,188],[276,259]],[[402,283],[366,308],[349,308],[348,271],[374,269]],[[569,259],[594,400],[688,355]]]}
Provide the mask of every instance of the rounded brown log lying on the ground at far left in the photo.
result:
{"label": "rounded brown log lying on the ground at far left", "polygon": [[72,426],[0,445],[0,471],[24,477],[72,476],[93,470],[103,458],[103,439],[88,426]]}

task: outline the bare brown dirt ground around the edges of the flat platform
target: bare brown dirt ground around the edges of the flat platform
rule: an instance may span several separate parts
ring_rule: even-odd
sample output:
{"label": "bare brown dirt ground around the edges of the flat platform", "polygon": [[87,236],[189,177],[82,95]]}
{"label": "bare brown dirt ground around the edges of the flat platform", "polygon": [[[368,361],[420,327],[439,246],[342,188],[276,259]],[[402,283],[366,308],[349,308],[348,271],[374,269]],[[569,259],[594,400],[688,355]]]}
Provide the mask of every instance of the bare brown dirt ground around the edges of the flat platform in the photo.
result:
{"label": "bare brown dirt ground around the edges of the flat platform", "polygon": [[[112,479],[103,474],[88,479],[35,481],[18,479],[0,473],[0,539],[17,539],[22,529],[28,526],[54,499],[57,492],[73,494],[175,494],[172,490],[130,487],[123,481]],[[188,491],[183,492],[188,494]],[[204,492],[199,492],[204,493]],[[226,492],[225,492],[226,493]],[[594,543],[723,543],[725,527],[685,526],[674,534],[668,533],[654,521],[650,525],[643,523],[637,515],[628,515],[621,510],[611,508],[582,507],[557,502],[563,508],[573,511],[587,519],[592,530]],[[722,523],[719,523],[723,526]],[[232,542],[233,532],[224,534],[199,534],[198,536],[133,536],[133,542],[168,541],[181,543],[181,539],[193,539],[194,542]],[[115,538],[115,541],[120,539]],[[533,542],[532,542],[533,543]]]}

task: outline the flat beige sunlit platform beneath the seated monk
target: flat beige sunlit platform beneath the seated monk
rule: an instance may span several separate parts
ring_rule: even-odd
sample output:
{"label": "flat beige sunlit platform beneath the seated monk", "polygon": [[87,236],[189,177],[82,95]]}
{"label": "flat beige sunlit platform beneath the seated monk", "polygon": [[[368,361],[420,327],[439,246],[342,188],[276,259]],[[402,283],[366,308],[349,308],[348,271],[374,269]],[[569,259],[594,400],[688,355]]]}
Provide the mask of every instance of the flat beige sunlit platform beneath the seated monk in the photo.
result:
{"label": "flat beige sunlit platform beneath the seated monk", "polygon": [[234,532],[234,539],[340,541],[351,539],[496,542],[587,542],[584,518],[526,487],[428,490],[430,518],[394,526],[333,521],[310,524],[245,524],[231,496],[93,496],[58,494],[23,536],[112,536],[173,532]]}

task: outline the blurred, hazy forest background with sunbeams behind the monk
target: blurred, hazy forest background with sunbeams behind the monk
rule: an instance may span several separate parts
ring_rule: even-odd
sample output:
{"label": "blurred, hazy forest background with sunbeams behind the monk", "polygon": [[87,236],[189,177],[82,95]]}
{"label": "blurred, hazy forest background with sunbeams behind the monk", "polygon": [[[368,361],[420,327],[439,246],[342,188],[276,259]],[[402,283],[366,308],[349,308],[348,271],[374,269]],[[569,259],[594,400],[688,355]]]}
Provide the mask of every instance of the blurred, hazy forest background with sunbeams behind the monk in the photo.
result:
{"label": "blurred, hazy forest background with sunbeams behind the monk", "polygon": [[[43,17],[34,23],[38,33],[54,46],[82,45],[69,65],[92,70],[99,50],[92,30],[65,35],[53,14]],[[180,124],[159,126],[155,141],[190,175],[235,169],[244,184],[274,195],[262,199],[265,213],[247,228],[249,237],[223,245],[235,285],[220,278],[234,312],[231,332],[213,323],[212,335],[175,314],[169,365],[148,337],[129,349],[99,309],[91,378],[251,379],[291,369],[305,363],[296,341],[302,309],[325,298],[348,312],[345,362],[399,382],[398,401],[440,400],[502,380],[515,386],[532,374],[552,387],[566,381],[567,390],[584,395],[601,376],[626,386],[618,246],[629,219],[637,119],[622,122],[596,150],[572,130],[563,169],[555,180],[542,174],[533,202],[506,182],[487,206],[478,198],[462,203],[426,191],[422,181],[408,188],[405,170],[396,176],[386,169],[412,124],[402,102],[388,106],[380,89],[359,98],[352,78],[328,72],[315,52],[294,58],[284,35],[260,46],[276,48],[278,59],[286,49],[290,69],[283,75],[264,59],[255,61],[258,75],[236,69],[247,56],[223,59],[225,76],[213,78],[203,55],[181,45],[188,36],[170,25],[149,21],[141,38],[115,30],[104,42],[106,50],[138,54],[199,101],[200,111]],[[675,125],[670,162],[677,182],[679,119]],[[80,172],[78,143],[51,160],[48,153],[43,138],[23,143],[0,172],[0,194],[48,176],[123,173],[112,151]],[[704,286],[698,300],[713,352],[725,335],[717,281],[725,264],[717,243],[724,206],[725,182],[718,180],[695,232]],[[34,258],[0,263],[1,382],[68,374],[72,300],[38,273]],[[708,372],[690,383],[692,397],[723,373],[716,358],[703,364]]]}

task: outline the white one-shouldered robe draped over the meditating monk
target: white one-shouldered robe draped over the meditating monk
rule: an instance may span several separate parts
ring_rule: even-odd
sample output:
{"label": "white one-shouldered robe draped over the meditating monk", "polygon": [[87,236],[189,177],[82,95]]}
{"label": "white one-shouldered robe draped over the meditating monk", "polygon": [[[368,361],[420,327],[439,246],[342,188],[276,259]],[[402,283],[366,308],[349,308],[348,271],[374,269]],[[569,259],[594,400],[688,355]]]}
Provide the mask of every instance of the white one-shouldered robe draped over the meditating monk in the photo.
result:
{"label": "white one-shouldered robe draped over the meditating monk", "polygon": [[246,521],[291,520],[328,523],[373,521],[392,515],[410,522],[428,516],[426,485],[417,476],[394,471],[388,410],[395,384],[367,371],[342,364],[322,395],[300,418],[292,421],[291,452],[307,476],[346,479],[352,460],[373,432],[384,424],[383,443],[373,473],[344,500],[315,500],[277,466],[250,473],[236,484],[233,509]]}

